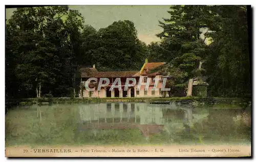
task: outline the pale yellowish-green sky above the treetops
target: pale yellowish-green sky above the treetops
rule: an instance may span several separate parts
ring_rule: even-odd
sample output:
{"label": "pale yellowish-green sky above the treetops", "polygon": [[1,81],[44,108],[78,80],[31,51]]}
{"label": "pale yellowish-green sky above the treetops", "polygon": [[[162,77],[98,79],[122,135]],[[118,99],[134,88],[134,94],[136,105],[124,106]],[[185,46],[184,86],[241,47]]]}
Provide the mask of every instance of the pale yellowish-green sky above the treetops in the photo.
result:
{"label": "pale yellowish-green sky above the treetops", "polygon": [[[149,44],[159,41],[156,34],[162,32],[159,20],[168,18],[169,6],[69,6],[78,10],[86,20],[87,25],[96,30],[108,27],[118,20],[134,22],[138,38]],[[9,19],[15,9],[6,9],[6,18]]]}

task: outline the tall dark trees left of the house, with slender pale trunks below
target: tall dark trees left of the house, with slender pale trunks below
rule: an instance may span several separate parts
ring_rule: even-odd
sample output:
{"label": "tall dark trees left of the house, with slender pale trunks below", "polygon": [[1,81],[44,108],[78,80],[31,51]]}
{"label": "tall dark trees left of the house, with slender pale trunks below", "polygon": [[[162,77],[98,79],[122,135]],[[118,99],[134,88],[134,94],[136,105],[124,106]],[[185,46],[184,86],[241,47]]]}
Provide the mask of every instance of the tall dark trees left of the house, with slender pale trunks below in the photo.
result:
{"label": "tall dark trees left of the house, with slender pale trunks below", "polygon": [[[71,78],[65,71],[71,60],[67,39],[70,33],[63,20],[68,13],[67,6],[18,8],[8,20],[8,75],[10,80],[17,80],[16,92],[22,93],[16,97],[40,97],[41,91],[59,95],[60,87],[67,85],[67,80],[65,85],[62,80]],[[11,85],[7,83],[7,87]]]}

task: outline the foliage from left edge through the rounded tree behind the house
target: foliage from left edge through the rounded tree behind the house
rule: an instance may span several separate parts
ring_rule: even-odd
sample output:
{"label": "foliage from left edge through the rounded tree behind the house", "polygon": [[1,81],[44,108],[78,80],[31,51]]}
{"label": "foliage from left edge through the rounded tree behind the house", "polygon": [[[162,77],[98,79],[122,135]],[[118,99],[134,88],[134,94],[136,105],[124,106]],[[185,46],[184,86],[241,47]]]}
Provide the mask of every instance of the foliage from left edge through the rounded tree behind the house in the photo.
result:
{"label": "foliage from left edge through the rounded tree behind the house", "polygon": [[71,97],[79,65],[138,70],[146,53],[129,20],[96,31],[68,6],[18,8],[6,24],[6,98]]}

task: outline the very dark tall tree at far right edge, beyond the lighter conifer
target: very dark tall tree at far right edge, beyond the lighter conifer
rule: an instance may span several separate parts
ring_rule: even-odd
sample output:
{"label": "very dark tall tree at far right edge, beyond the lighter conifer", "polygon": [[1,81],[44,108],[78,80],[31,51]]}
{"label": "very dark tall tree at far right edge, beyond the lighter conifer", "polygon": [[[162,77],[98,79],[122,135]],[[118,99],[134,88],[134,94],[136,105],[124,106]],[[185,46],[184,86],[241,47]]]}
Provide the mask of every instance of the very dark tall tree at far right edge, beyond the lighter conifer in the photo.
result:
{"label": "very dark tall tree at far right edge, beyond the lighter conifer", "polygon": [[211,6],[208,33],[212,43],[204,64],[209,94],[251,97],[250,55],[246,6]]}

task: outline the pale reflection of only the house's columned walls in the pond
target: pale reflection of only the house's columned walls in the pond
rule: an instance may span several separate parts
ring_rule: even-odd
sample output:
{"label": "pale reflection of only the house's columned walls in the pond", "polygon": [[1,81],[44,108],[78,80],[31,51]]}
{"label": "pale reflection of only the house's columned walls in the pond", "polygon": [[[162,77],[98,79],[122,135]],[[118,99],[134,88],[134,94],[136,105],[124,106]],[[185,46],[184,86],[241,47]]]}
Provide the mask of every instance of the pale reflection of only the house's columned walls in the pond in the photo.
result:
{"label": "pale reflection of only the house's columned walls in the pond", "polygon": [[79,107],[80,122],[163,125],[163,108],[144,103],[102,103]]}

